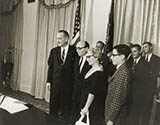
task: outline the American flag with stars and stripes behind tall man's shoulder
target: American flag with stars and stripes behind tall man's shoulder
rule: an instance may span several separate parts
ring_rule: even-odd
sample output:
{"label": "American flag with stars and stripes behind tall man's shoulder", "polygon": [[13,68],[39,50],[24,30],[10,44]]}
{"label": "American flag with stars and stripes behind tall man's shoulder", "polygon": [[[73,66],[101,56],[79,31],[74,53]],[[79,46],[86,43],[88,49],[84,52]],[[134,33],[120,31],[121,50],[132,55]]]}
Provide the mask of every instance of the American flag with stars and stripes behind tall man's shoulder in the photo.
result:
{"label": "American flag with stars and stripes behind tall man's shoulder", "polygon": [[80,8],[81,8],[81,0],[78,0],[76,15],[75,15],[74,31],[72,37],[73,45],[76,45],[77,42],[80,40],[80,22],[81,22]]}

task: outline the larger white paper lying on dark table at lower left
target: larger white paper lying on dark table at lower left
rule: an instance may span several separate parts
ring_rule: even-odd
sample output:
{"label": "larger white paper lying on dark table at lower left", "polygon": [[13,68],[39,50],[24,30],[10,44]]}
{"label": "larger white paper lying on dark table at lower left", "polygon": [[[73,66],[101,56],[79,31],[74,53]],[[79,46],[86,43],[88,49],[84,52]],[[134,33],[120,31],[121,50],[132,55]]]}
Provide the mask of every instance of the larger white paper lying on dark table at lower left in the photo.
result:
{"label": "larger white paper lying on dark table at lower left", "polygon": [[17,102],[19,102],[19,100],[6,96],[1,103],[0,108],[8,111],[11,114],[28,109],[28,107],[24,104]]}

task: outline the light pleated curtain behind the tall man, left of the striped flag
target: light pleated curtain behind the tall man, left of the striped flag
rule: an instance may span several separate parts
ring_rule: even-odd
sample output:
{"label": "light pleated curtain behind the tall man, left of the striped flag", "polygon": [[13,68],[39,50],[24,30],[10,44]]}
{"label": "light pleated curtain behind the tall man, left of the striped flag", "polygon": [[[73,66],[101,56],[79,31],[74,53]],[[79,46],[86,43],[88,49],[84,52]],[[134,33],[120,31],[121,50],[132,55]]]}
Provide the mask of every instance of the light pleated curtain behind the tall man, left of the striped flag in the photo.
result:
{"label": "light pleated curtain behind the tall man, left of the striped flag", "polygon": [[[64,2],[64,0],[61,2]],[[72,37],[76,6],[77,0],[73,1],[67,7],[58,9],[49,9],[43,4],[39,4],[36,28],[37,40],[34,55],[34,76],[32,82],[32,95],[36,98],[46,97],[46,100],[48,100],[49,95],[46,89],[46,78],[49,52],[51,48],[57,46],[56,34],[58,30],[65,29]]]}

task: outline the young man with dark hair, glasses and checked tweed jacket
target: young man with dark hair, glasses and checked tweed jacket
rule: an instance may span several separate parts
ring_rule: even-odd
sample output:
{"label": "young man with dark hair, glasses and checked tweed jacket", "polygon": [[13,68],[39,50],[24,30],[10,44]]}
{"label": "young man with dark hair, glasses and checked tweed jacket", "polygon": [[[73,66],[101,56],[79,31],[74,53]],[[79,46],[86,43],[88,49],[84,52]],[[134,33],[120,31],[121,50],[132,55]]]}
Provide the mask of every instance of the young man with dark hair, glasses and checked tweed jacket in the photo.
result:
{"label": "young man with dark hair, glasses and checked tweed jacket", "polygon": [[113,48],[111,60],[116,71],[110,79],[105,103],[106,125],[127,125],[127,100],[130,72],[126,64],[130,48],[120,44]]}

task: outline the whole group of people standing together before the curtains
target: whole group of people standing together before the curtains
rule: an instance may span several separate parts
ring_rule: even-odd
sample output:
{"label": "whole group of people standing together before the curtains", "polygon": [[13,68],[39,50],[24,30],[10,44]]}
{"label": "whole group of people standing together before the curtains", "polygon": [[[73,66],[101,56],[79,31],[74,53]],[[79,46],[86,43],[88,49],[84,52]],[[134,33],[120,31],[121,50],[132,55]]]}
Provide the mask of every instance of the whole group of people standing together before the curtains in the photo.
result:
{"label": "whole group of people standing together before the curtains", "polygon": [[102,41],[90,48],[87,41],[70,46],[65,30],[56,37],[47,78],[53,125],[74,125],[87,113],[90,125],[149,125],[160,75],[152,43],[119,44],[105,53]]}

